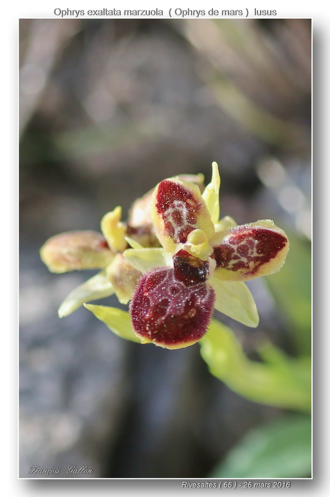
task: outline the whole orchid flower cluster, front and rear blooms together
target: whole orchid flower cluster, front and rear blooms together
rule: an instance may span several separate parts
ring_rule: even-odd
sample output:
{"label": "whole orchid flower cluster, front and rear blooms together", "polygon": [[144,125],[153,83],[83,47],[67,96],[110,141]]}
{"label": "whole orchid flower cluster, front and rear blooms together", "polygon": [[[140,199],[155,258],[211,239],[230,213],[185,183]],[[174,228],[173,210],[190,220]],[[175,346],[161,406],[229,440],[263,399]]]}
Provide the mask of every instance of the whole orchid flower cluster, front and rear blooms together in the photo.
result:
{"label": "whole orchid flower cluster, front and rear blooms together", "polygon": [[[203,193],[201,175],[165,179],[133,204],[128,223],[117,207],[102,219],[103,235],[71,232],[48,240],[41,258],[51,271],[101,268],[68,295],[59,315],[84,304],[123,338],[168,349],[200,340],[214,308],[257,327],[244,281],[278,271],[288,239],[270,220],[237,226],[229,216],[219,219],[216,163],[212,169]],[[131,301],[131,316],[86,304],[113,293],[121,303]]]}

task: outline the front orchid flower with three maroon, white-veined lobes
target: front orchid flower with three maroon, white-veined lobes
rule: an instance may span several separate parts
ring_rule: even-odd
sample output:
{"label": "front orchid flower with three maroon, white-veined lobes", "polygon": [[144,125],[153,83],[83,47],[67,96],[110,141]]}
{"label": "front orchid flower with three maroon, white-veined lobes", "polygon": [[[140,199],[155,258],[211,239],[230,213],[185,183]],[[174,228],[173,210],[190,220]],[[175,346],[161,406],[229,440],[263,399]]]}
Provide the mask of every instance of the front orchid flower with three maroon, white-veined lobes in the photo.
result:
{"label": "front orchid flower with three maroon, white-veined lobes", "polygon": [[220,177],[212,164],[203,194],[179,177],[154,189],[151,217],[162,248],[134,248],[124,257],[142,273],[132,300],[133,331],[142,343],[169,349],[196,343],[206,333],[213,308],[256,327],[259,316],[244,281],[282,266],[289,247],[270,220],[237,226],[219,220]]}

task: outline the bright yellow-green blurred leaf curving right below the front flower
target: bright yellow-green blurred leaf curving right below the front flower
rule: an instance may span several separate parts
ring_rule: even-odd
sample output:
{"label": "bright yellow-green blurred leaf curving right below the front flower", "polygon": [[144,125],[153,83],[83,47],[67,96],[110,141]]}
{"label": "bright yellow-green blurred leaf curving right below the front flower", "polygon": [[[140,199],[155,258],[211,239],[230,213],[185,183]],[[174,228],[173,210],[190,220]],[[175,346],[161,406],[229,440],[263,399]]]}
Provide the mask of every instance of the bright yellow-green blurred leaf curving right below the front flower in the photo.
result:
{"label": "bright yellow-green blurred leaf curving right below the front flower", "polygon": [[311,364],[279,352],[271,344],[262,348],[267,362],[251,361],[230,328],[216,320],[199,341],[210,372],[247,399],[297,411],[311,407]]}

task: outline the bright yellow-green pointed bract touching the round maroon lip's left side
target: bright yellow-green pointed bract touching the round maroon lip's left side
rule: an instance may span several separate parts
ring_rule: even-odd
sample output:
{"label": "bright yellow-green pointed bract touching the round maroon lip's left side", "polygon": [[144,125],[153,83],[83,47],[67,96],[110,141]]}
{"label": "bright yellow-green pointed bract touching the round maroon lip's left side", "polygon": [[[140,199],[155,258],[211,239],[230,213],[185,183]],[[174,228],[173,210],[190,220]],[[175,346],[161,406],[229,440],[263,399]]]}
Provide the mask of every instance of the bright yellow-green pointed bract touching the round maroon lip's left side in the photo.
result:
{"label": "bright yellow-green pointed bract touching the round maroon lip's left side", "polygon": [[134,331],[132,330],[130,314],[122,309],[107,306],[95,306],[93,304],[84,304],[88,311],[102,321],[113,333],[137,343],[141,343]]}

